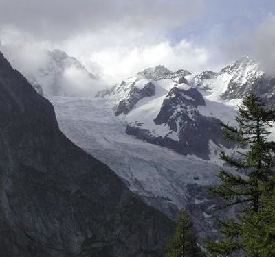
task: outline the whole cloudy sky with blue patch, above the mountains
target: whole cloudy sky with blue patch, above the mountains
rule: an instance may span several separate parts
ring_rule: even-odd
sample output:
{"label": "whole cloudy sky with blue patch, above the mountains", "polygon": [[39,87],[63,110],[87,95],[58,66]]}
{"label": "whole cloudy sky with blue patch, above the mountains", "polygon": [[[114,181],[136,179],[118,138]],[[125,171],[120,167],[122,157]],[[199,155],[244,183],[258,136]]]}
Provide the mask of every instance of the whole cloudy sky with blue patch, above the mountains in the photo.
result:
{"label": "whole cloudy sky with blue patch, above the mountains", "polygon": [[[63,49],[110,81],[148,66],[275,66],[274,0],[0,0],[3,45]],[[33,51],[35,53],[35,51]]]}

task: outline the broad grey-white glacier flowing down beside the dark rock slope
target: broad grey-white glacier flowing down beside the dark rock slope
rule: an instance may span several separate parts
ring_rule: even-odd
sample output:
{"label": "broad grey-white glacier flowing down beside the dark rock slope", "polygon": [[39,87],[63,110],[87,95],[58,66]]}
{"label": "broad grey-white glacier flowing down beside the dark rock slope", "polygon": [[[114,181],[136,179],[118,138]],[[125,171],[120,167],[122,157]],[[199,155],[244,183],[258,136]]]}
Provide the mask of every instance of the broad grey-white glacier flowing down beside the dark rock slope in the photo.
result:
{"label": "broad grey-white glacier flowing down beside the dark rock slope", "polygon": [[210,206],[215,199],[205,186],[217,183],[216,160],[184,156],[171,149],[138,140],[125,133],[126,120],[116,117],[109,99],[48,97],[65,135],[98,160],[107,164],[131,191],[147,204],[175,219],[186,208],[200,238],[214,232]]}

